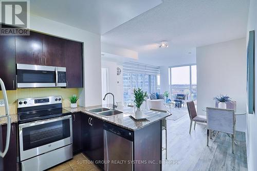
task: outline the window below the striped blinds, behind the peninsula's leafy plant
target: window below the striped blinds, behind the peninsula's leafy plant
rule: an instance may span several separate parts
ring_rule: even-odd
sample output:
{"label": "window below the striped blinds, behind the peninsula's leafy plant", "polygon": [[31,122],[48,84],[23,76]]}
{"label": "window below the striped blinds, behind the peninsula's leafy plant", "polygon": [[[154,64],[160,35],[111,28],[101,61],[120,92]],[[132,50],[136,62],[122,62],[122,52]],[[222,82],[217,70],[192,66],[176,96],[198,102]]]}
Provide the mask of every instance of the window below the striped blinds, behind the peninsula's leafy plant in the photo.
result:
{"label": "window below the striped blinds, behind the peninsula's leafy plant", "polygon": [[[141,88],[148,94],[158,92],[157,78],[159,75],[149,75],[143,73],[123,72],[123,99],[124,102],[132,101],[133,88]],[[160,87],[160,86],[159,86]]]}

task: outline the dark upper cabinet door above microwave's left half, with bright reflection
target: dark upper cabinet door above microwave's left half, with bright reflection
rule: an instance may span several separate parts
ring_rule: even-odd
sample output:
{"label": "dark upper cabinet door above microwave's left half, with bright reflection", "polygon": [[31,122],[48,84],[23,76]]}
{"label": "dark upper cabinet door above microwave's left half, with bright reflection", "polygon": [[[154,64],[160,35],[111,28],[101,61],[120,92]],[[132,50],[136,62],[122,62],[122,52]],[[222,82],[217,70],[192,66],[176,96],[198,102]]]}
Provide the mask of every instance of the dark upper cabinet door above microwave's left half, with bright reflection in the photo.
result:
{"label": "dark upper cabinet door above microwave's left half, with bright reflection", "polygon": [[43,34],[15,36],[17,64],[43,65]]}

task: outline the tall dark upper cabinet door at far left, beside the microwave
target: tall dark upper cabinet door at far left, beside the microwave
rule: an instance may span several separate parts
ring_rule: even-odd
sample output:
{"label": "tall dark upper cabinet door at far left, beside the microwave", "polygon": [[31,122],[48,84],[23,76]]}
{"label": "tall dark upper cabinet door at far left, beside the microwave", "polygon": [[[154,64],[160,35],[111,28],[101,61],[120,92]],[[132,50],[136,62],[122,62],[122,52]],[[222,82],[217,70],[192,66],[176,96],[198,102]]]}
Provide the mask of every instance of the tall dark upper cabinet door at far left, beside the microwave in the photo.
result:
{"label": "tall dark upper cabinet door at far left, beside the microwave", "polygon": [[0,78],[6,90],[16,89],[15,36],[12,35],[0,35]]}

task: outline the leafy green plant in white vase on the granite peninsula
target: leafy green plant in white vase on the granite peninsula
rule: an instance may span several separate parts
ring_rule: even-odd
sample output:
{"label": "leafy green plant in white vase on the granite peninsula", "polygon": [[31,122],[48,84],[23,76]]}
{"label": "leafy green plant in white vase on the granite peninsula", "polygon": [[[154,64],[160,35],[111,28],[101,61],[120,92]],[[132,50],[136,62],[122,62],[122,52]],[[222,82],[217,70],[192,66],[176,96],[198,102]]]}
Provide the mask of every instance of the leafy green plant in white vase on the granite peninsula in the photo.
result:
{"label": "leafy green plant in white vase on the granite peninsula", "polygon": [[135,88],[133,89],[133,94],[135,96],[135,100],[134,103],[137,107],[136,110],[136,115],[142,115],[142,111],[141,111],[141,105],[143,104],[143,102],[145,102],[145,98],[148,96],[146,91],[143,91],[141,88]]}

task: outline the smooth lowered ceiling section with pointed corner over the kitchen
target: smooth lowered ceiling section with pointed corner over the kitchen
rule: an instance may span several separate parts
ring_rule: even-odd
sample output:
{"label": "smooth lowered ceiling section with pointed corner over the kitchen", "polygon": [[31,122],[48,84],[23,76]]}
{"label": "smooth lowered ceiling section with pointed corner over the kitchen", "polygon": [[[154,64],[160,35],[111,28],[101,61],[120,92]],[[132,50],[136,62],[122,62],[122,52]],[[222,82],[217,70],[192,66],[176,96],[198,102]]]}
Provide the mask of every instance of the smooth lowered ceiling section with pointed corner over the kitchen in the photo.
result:
{"label": "smooth lowered ceiling section with pointed corner over the kitchen", "polygon": [[161,3],[161,0],[30,0],[30,12],[103,34]]}

